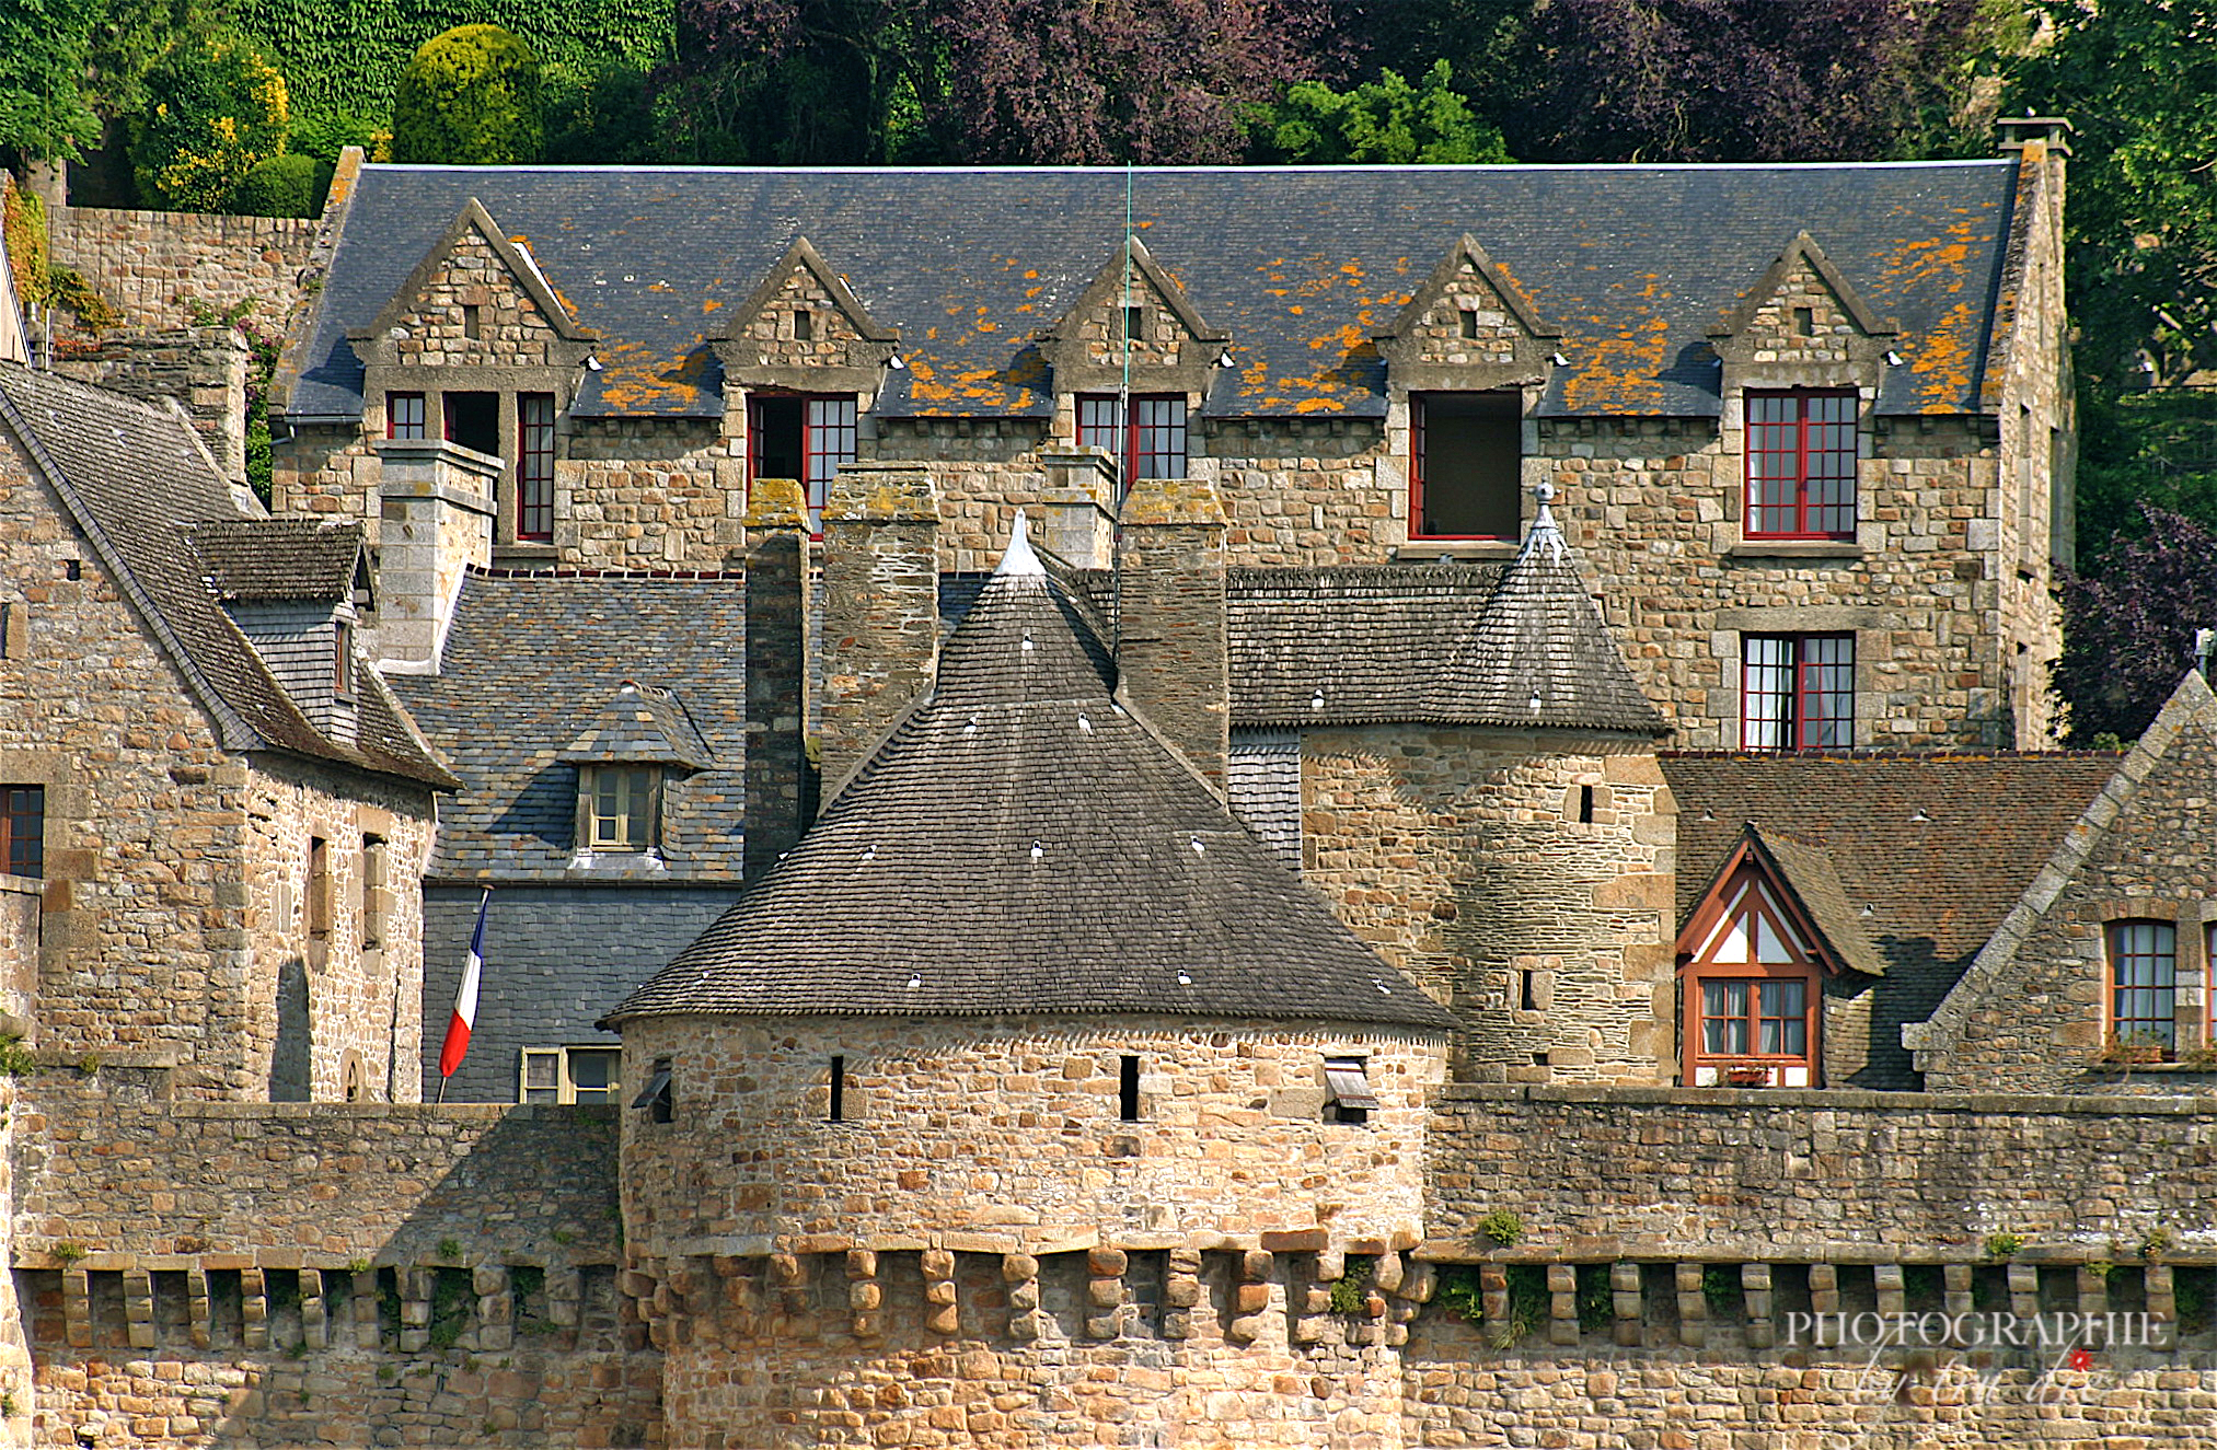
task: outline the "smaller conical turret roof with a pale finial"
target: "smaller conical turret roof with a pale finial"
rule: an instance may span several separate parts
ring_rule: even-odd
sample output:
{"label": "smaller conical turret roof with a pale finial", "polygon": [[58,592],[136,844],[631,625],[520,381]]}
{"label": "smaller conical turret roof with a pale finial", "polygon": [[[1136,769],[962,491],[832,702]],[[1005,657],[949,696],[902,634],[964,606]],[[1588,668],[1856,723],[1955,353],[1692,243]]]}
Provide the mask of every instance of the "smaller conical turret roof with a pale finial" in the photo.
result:
{"label": "smaller conical turret roof with a pale finial", "polygon": [[1605,729],[1663,736],[1539,486],[1523,550],[1439,678],[1434,718],[1514,729]]}

